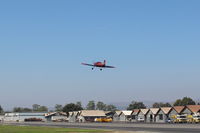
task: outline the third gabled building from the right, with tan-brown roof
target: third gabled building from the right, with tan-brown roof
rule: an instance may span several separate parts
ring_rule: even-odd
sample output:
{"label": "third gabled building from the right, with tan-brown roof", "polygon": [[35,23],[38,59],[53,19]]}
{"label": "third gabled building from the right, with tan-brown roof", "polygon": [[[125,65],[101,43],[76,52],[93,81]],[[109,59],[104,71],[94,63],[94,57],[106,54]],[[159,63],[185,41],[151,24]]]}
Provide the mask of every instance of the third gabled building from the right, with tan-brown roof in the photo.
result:
{"label": "third gabled building from the right, with tan-brown roof", "polygon": [[156,122],[165,123],[169,119],[169,113],[172,110],[172,107],[162,107],[156,115]]}

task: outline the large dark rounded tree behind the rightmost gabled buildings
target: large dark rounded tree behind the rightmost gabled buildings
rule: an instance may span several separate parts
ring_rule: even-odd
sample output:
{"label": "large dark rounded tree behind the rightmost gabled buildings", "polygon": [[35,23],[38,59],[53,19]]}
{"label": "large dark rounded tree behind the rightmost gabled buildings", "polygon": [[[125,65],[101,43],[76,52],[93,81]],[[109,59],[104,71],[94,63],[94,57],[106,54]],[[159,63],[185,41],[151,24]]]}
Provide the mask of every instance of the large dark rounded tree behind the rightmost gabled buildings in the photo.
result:
{"label": "large dark rounded tree behind the rightmost gabled buildings", "polygon": [[174,103],[174,106],[186,106],[186,105],[195,105],[195,101],[190,97],[184,97],[182,99],[177,99]]}

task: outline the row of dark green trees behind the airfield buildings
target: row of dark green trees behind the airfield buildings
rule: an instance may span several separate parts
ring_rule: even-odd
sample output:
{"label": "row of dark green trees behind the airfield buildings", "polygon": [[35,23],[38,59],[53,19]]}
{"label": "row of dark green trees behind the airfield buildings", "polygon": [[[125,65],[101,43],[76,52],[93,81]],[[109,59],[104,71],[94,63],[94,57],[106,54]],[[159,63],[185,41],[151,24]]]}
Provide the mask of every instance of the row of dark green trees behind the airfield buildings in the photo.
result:
{"label": "row of dark green trees behind the airfield buildings", "polygon": [[[171,106],[185,106],[185,105],[195,105],[200,103],[196,103],[192,98],[190,97],[183,97],[182,99],[177,99],[173,104],[170,103],[163,103],[163,102],[155,102],[152,104],[151,107],[153,108],[160,108],[160,107],[171,107]],[[143,102],[137,102],[132,101],[129,106],[127,107],[127,110],[133,110],[133,109],[145,109],[147,106]],[[55,111],[63,111],[63,112],[70,112],[70,111],[79,111],[79,110],[104,110],[104,111],[115,111],[117,110],[116,106],[112,104],[105,104],[101,101],[98,101],[95,103],[95,101],[91,100],[88,102],[85,108],[83,108],[81,102],[76,103],[69,103],[65,106],[62,106],[61,104],[55,105]],[[41,106],[39,104],[33,104],[32,108],[22,108],[22,107],[15,107],[13,108],[13,112],[47,112],[48,108],[46,106]],[[0,105],[0,114],[4,112],[3,108]]]}

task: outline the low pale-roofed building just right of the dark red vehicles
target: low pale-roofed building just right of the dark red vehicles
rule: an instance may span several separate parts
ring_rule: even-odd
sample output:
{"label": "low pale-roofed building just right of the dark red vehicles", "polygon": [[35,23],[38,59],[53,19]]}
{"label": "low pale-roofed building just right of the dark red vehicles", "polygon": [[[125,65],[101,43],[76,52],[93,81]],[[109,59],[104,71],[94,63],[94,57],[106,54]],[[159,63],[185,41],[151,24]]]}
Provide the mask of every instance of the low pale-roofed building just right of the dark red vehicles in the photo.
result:
{"label": "low pale-roofed building just right of the dark red vehicles", "polygon": [[44,116],[47,121],[68,121],[67,113],[65,112],[49,112],[46,113]]}

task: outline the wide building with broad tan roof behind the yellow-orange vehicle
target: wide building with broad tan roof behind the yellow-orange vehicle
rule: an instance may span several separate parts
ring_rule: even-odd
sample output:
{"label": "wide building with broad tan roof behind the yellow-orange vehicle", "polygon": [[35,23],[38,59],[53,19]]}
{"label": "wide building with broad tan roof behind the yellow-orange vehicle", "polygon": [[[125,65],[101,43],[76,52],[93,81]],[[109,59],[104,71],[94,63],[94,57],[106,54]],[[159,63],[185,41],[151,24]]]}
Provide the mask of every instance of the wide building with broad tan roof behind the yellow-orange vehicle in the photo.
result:
{"label": "wide building with broad tan roof behind the yellow-orange vehicle", "polygon": [[82,110],[78,113],[77,119],[79,122],[94,122],[95,118],[105,118],[103,110]]}

